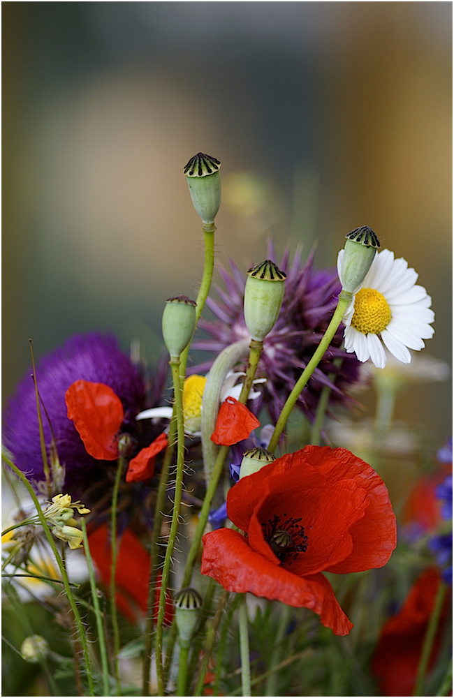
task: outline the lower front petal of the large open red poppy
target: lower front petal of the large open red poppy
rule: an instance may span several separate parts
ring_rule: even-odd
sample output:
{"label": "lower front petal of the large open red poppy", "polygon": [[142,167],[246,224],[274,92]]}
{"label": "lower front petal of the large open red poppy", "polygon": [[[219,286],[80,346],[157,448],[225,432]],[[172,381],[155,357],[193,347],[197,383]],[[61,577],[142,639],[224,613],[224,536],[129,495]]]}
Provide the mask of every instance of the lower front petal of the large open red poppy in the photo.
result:
{"label": "lower front petal of the large open red poppy", "polygon": [[206,533],[203,545],[200,572],[219,581],[227,591],[249,591],[288,606],[311,609],[337,635],[346,635],[353,628],[323,574],[297,577],[252,551],[247,540],[230,528]]}

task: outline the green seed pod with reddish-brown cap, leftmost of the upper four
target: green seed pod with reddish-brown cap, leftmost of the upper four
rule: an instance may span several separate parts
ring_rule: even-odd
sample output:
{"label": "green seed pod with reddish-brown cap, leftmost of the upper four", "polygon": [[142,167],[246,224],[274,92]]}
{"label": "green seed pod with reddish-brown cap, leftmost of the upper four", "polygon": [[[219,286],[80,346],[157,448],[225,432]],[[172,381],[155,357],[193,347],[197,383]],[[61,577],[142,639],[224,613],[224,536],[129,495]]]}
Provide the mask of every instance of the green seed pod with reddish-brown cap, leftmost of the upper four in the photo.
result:
{"label": "green seed pod with reddish-brown cap, leftmost of the upper four", "polygon": [[170,357],[178,358],[196,329],[196,302],[187,296],[168,298],[162,314],[162,334]]}

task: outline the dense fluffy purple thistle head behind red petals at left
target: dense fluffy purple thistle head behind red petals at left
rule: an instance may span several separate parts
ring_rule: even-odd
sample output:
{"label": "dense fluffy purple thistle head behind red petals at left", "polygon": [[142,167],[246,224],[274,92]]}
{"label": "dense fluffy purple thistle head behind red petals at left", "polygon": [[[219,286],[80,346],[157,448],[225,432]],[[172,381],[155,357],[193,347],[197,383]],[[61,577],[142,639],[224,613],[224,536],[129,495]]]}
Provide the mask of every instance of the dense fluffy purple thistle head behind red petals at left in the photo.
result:
{"label": "dense fluffy purple thistle head behind red petals at left", "polygon": [[[3,443],[13,460],[32,480],[43,480],[43,459],[32,371],[17,386],[3,417]],[[68,489],[78,487],[99,461],[87,454],[71,419],[66,416],[65,392],[75,380],[109,385],[124,407],[124,431],[135,433],[135,417],[145,399],[145,384],[129,357],[111,335],[78,334],[44,357],[36,366],[36,380],[57,442],[61,464],[66,466]],[[44,410],[43,429],[47,448],[52,438]],[[86,484],[86,483],[85,483]]]}

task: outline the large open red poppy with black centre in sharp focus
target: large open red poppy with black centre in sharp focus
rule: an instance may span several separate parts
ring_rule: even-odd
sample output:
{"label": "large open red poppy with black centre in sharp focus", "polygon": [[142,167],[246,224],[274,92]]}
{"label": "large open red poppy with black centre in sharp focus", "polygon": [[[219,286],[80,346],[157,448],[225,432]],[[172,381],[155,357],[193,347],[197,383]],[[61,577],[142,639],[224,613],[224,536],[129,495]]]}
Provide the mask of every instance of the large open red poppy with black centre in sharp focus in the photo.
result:
{"label": "large open red poppy with black centre in sharp focus", "polygon": [[247,537],[230,528],[205,534],[202,574],[228,591],[312,609],[338,635],[353,625],[322,572],[381,567],[396,545],[388,490],[343,448],[307,446],[243,477],[227,513]]}

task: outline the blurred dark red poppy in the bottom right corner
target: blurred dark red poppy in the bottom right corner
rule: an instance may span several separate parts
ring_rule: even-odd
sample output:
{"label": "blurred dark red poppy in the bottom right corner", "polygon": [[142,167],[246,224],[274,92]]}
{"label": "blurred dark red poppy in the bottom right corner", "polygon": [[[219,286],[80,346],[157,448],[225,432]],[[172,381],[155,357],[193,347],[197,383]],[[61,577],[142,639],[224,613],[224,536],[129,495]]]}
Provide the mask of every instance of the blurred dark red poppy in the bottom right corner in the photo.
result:
{"label": "blurred dark red poppy in the bottom right corner", "polygon": [[[371,664],[372,674],[379,679],[382,695],[413,695],[425,632],[440,582],[438,570],[425,570],[411,587],[399,613],[383,625]],[[440,650],[447,614],[448,604],[442,611],[429,670]]]}

